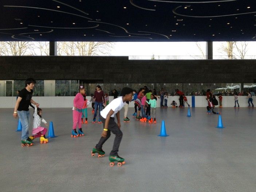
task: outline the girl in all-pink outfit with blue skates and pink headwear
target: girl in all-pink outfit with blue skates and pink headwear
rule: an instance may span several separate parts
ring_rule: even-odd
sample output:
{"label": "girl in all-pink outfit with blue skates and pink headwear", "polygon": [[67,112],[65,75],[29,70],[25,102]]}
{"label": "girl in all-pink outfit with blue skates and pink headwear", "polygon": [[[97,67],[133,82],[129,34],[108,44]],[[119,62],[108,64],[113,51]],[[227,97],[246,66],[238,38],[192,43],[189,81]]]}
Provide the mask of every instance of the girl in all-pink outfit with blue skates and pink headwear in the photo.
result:
{"label": "girl in all-pink outfit with blue skates and pink headwear", "polygon": [[[81,86],[79,88],[79,93],[75,95],[73,100],[74,110],[73,110],[73,130],[71,137],[84,136],[84,132],[82,132],[82,107],[84,105],[84,96],[85,88]],[[78,133],[77,133],[77,125],[78,125]]]}

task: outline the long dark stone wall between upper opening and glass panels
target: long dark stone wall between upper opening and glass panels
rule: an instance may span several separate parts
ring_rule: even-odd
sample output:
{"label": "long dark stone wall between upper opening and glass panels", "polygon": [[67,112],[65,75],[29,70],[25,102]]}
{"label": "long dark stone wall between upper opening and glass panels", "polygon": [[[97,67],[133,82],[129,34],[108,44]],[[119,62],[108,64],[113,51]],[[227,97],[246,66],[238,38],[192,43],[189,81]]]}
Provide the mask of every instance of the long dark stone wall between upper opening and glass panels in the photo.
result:
{"label": "long dark stone wall between upper opening and glass panels", "polygon": [[102,83],[256,82],[256,60],[128,60],[127,56],[0,56],[0,80]]}

